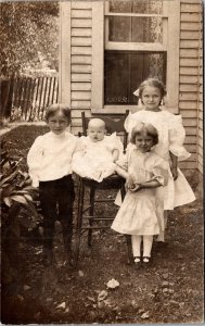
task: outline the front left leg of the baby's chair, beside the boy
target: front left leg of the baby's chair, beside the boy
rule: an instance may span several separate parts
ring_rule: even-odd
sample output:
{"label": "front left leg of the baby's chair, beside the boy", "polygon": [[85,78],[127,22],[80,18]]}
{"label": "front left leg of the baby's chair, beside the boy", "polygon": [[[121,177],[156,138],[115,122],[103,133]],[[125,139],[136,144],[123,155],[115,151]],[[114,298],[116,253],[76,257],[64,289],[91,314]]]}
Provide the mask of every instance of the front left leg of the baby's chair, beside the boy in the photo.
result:
{"label": "front left leg of the baby's chair, beside the boy", "polygon": [[82,224],[82,211],[84,211],[84,195],[85,186],[84,180],[79,179],[79,191],[78,191],[78,212],[77,212],[77,224],[76,224],[76,250],[75,250],[75,264],[78,263],[80,238],[81,238],[81,224]]}

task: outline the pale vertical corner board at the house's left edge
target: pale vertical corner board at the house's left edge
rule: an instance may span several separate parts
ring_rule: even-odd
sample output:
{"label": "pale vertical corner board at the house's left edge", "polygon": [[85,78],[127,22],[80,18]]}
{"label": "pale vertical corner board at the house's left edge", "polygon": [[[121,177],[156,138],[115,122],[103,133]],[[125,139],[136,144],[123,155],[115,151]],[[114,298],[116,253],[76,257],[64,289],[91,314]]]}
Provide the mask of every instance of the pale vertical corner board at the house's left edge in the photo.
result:
{"label": "pale vertical corner board at the house's left edge", "polygon": [[60,2],[60,102],[71,108],[71,2]]}

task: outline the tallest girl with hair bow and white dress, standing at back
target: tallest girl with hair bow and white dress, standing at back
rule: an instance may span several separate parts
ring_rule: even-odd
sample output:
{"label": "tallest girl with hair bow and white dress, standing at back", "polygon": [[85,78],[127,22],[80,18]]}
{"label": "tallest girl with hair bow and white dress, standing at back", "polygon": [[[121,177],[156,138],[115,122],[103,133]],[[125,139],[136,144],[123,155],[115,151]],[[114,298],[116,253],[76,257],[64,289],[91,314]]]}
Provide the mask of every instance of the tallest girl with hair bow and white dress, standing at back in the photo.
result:
{"label": "tallest girl with hair bow and white dress, standing at back", "polygon": [[[190,185],[178,168],[178,161],[183,161],[190,156],[183,147],[185,133],[182,120],[180,115],[174,115],[162,110],[161,104],[166,96],[166,90],[159,80],[149,78],[140,85],[138,91],[143,110],[129,114],[125,122],[125,128],[130,133],[137,123],[144,122],[152,123],[157,129],[158,143],[155,146],[154,152],[169,162],[168,184],[164,189],[161,189],[165,192],[164,210],[174,210],[176,206],[195,200]],[[158,236],[158,241],[164,241],[164,233]]]}

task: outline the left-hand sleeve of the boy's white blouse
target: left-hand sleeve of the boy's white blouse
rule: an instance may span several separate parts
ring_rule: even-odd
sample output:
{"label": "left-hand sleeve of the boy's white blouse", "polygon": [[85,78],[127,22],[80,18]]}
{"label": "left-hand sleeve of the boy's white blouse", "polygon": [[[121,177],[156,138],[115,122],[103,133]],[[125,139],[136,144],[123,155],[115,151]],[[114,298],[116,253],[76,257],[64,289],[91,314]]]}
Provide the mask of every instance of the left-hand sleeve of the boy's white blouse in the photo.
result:
{"label": "left-hand sleeve of the boy's white blouse", "polygon": [[29,176],[33,180],[33,186],[39,186],[39,170],[41,167],[41,158],[43,155],[43,137],[39,136],[29,149],[27,155],[27,164],[29,168]]}

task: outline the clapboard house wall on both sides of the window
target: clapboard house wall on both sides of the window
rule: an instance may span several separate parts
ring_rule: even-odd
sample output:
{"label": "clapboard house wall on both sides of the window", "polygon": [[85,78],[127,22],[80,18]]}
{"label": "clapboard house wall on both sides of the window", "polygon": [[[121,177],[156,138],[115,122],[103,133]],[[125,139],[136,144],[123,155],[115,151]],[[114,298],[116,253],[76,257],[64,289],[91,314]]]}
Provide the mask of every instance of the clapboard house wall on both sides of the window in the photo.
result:
{"label": "clapboard house wall on both sides of the window", "polygon": [[[62,2],[65,14],[62,17],[62,40],[67,37],[69,46],[62,48],[62,70],[68,72],[61,80],[66,82],[61,99],[69,99],[72,108],[72,130],[81,130],[81,111],[91,116],[91,80],[92,80],[92,22],[94,20],[93,1]],[[200,58],[201,1],[180,0],[180,40],[179,40],[179,114],[185,127],[185,148],[192,155],[180,163],[184,170],[200,168],[202,172],[202,57]],[[66,20],[71,16],[71,25]],[[66,36],[65,36],[66,35]],[[63,47],[65,47],[66,42]],[[201,54],[202,55],[202,54]],[[65,57],[65,58],[64,58]],[[68,58],[66,60],[66,57]],[[68,62],[68,63],[65,63]],[[201,72],[200,72],[201,63]],[[69,65],[69,66],[68,66]],[[200,75],[201,74],[201,75]],[[201,87],[198,88],[198,85]]]}

